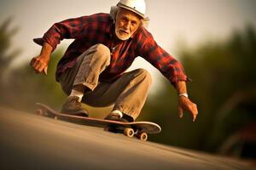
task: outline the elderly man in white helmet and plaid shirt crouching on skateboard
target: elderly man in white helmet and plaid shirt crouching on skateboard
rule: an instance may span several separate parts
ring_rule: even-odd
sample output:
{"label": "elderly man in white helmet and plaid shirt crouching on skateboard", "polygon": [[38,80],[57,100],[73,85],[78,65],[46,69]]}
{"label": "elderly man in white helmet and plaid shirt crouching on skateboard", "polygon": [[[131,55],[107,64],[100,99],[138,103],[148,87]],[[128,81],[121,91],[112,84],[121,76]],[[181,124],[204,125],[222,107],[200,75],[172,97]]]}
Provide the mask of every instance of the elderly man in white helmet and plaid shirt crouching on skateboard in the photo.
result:
{"label": "elderly man in white helmet and plaid shirt crouching on skateboard", "polygon": [[95,107],[113,105],[108,120],[133,122],[148,95],[148,71],[125,70],[137,56],[154,65],[177,89],[178,111],[187,110],[193,122],[197,108],[189,100],[183,66],[166,53],[145,29],[144,0],[120,0],[110,14],[92,14],[55,23],[34,42],[41,54],[31,61],[32,68],[47,74],[50,54],[64,38],[74,41],[57,65],[56,81],[68,95],[61,112],[88,116],[81,103]]}

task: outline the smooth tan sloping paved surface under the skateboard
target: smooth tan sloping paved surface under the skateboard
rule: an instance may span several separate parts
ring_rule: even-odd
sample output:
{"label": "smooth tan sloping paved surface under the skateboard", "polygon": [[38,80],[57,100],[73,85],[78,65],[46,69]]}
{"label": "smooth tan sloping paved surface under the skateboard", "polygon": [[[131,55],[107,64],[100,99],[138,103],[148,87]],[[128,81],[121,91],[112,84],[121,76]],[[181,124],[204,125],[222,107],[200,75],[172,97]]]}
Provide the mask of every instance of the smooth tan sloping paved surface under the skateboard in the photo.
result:
{"label": "smooth tan sloping paved surface under the skateboard", "polygon": [[243,161],[0,107],[0,169],[256,169]]}

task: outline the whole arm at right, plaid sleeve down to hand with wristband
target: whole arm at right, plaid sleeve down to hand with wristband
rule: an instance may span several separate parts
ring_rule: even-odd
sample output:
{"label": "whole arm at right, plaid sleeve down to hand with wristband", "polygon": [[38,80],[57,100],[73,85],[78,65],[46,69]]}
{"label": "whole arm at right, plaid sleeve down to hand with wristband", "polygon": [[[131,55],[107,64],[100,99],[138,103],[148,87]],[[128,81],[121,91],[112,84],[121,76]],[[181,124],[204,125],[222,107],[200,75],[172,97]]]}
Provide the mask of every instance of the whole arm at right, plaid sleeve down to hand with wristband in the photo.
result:
{"label": "whole arm at right, plaid sleeve down to hand with wristband", "polygon": [[142,27],[140,31],[143,33],[137,37],[138,55],[154,65],[177,89],[179,116],[182,117],[183,111],[187,110],[195,122],[198,114],[197,106],[185,95],[187,94],[186,82],[189,81],[189,78],[184,74],[183,65],[163,48],[160,48],[154,41],[154,37],[146,29]]}

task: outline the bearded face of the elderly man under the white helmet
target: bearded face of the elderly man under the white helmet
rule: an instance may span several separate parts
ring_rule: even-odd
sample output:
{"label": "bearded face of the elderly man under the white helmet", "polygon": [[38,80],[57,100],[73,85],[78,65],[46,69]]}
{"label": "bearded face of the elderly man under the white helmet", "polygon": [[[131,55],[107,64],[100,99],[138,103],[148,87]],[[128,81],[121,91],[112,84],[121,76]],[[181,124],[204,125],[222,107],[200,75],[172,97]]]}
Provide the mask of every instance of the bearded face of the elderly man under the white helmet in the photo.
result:
{"label": "bearded face of the elderly man under the white helmet", "polygon": [[141,20],[137,14],[121,8],[116,16],[115,34],[120,40],[127,40],[137,31],[141,25]]}

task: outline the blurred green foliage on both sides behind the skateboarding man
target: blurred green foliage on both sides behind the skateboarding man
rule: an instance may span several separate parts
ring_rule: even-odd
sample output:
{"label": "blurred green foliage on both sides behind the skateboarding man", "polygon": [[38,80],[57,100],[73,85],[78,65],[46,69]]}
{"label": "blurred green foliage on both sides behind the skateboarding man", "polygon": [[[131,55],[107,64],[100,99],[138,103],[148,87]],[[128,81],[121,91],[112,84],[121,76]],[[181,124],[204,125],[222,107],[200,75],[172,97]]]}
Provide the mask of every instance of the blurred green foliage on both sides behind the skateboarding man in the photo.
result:
{"label": "blurred green foliage on both sides behind the skateboarding man", "polygon": [[[26,63],[3,78],[4,71],[18,54],[18,50],[11,48],[11,38],[17,29],[10,29],[9,23],[10,20],[6,20],[0,25],[1,104],[33,111],[32,105],[39,101],[60,108],[66,96],[55,82],[55,66],[63,49],[52,54],[47,76],[36,75]],[[188,90],[190,99],[198,105],[199,116],[196,122],[191,122],[188,112],[183,119],[178,118],[176,91],[162,77],[160,90],[148,98],[143,114],[138,117],[162,127],[162,133],[150,139],[189,149],[216,151],[236,130],[255,122],[255,47],[256,35],[251,26],[234,32],[225,41],[205,42],[193,49],[180,47],[179,57],[188,76],[194,80],[188,82]]]}

